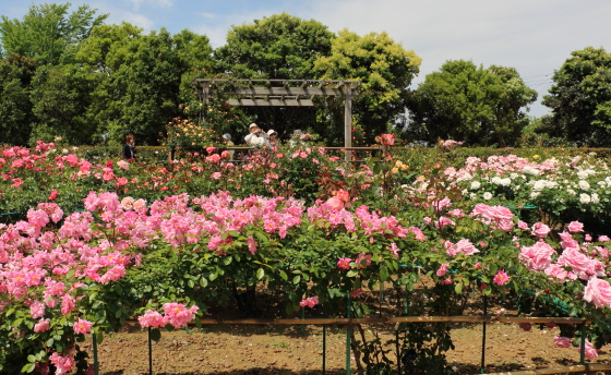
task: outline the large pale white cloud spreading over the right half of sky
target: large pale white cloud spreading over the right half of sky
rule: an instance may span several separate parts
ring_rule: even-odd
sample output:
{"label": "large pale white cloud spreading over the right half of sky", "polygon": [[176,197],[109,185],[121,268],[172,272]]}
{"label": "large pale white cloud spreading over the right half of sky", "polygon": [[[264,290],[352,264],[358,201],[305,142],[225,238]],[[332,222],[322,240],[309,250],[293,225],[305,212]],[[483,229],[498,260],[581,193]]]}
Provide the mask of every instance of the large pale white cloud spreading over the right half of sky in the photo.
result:
{"label": "large pale white cloud spreading over the right half of sky", "polygon": [[[420,75],[446,60],[514,66],[523,76],[552,74],[571,51],[609,43],[611,2],[571,0],[315,0],[302,17],[315,19],[331,31],[359,34],[386,31],[422,58]],[[528,80],[525,78],[528,82]],[[535,81],[535,80],[531,80]],[[535,89],[544,92],[541,81]],[[540,95],[541,97],[541,95]],[[544,107],[534,106],[534,114]]]}

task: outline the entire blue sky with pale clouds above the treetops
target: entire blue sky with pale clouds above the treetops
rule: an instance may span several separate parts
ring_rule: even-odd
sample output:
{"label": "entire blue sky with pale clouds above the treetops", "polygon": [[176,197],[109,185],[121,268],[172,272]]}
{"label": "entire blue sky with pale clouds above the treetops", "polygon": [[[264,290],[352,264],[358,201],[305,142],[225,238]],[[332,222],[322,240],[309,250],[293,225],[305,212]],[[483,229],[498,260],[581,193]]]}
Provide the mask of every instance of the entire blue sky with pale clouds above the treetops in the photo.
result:
{"label": "entire blue sky with pale clouds above the treetops", "polygon": [[[0,14],[21,19],[31,4],[0,0]],[[420,75],[438,70],[446,60],[514,66],[541,97],[550,76],[571,51],[587,46],[611,50],[611,1],[608,0],[92,0],[109,13],[108,23],[127,21],[146,31],[166,27],[172,33],[189,28],[207,35],[213,46],[225,43],[231,25],[252,23],[288,12],[314,19],[332,32],[349,28],[361,35],[387,32],[404,48],[422,58]],[[547,108],[536,104],[530,114]]]}

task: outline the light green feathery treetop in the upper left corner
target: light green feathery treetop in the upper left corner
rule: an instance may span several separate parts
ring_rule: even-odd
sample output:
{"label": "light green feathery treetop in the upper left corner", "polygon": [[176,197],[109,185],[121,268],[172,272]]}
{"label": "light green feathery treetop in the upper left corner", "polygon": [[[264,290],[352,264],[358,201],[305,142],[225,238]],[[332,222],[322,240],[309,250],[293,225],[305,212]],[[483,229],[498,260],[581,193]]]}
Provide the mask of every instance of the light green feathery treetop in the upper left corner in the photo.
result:
{"label": "light green feathery treetop in the upper left corner", "polygon": [[88,5],[81,5],[69,14],[70,5],[32,5],[23,21],[2,16],[0,40],[4,52],[31,57],[39,64],[73,62],[79,44],[108,14],[96,16],[96,10]]}

